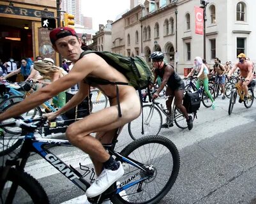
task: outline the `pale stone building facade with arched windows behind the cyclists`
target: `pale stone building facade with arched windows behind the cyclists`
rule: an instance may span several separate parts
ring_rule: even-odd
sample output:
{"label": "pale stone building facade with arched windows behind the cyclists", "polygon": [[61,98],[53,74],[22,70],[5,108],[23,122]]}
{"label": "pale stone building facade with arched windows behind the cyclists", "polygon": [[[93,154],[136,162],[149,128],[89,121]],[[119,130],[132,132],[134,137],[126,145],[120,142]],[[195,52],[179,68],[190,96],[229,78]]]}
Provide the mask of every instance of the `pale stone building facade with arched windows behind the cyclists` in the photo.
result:
{"label": "pale stone building facade with arched windows behind the cyclists", "polygon": [[[206,6],[209,64],[213,64],[215,57],[224,63],[234,63],[240,52],[256,61],[252,46],[256,45],[255,4],[253,0],[209,0]],[[112,52],[142,55],[149,62],[152,52],[162,51],[165,61],[183,73],[184,68],[193,67],[195,56],[204,56],[204,36],[195,34],[195,6],[202,4],[199,0],[156,0],[154,4],[145,1],[135,6],[112,23]]]}

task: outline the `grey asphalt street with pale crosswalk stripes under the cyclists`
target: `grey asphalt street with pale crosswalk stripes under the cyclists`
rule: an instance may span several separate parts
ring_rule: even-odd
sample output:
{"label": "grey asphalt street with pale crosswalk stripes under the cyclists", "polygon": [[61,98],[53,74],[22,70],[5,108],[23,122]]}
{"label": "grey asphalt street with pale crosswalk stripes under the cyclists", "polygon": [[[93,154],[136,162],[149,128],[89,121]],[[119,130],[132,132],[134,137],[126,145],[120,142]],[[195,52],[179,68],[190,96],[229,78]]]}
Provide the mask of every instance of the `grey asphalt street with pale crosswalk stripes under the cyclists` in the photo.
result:
{"label": "grey asphalt street with pale crosswalk stripes under the cyclists", "polygon": [[[201,105],[191,131],[162,129],[160,135],[179,149],[181,168],[160,203],[256,203],[256,104],[246,109],[236,103],[232,115],[228,105],[229,99],[220,97],[215,110]],[[130,142],[124,127],[117,147],[123,149]],[[74,167],[86,157],[75,149],[57,151]],[[45,188],[50,203],[85,203],[84,193],[39,157],[33,157],[27,171]]]}

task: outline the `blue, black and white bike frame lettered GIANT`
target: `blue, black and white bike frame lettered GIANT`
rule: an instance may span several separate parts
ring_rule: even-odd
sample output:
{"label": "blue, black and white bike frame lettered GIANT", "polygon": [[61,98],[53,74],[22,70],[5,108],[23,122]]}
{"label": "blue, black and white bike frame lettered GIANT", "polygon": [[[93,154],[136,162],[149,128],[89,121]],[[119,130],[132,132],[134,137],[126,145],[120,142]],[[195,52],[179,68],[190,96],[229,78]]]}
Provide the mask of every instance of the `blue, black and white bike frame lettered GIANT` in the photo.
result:
{"label": "blue, black and white bike frame lettered GIANT", "polygon": [[[90,183],[94,180],[94,170],[93,168],[89,168],[88,166],[83,166],[83,168],[86,169],[86,173],[82,175],[79,173],[79,171],[75,170],[71,165],[68,166],[66,163],[61,161],[56,155],[54,155],[52,152],[50,152],[49,149],[47,149],[45,146],[50,147],[73,147],[73,145],[68,142],[68,140],[57,140],[57,139],[47,139],[47,138],[35,138],[34,133],[27,133],[26,136],[21,136],[24,138],[24,143],[22,144],[22,147],[20,149],[19,154],[14,157],[14,159],[8,159],[6,160],[6,166],[5,171],[8,171],[11,166],[15,166],[17,170],[24,171],[24,168],[26,166],[26,162],[28,157],[30,156],[30,152],[35,152],[36,154],[39,154],[43,159],[45,159],[47,162],[49,162],[54,168],[56,168],[61,174],[63,174],[67,179],[69,179],[73,184],[78,186],[82,191],[86,192],[87,188],[91,186]],[[116,136],[117,137],[117,136]],[[116,156],[118,161],[121,161],[123,163],[129,163],[133,166],[139,168],[141,171],[144,171],[148,173],[148,170],[143,166],[143,164],[134,161],[133,159],[130,159],[129,157],[124,157],[119,154],[119,152],[116,152],[114,150],[114,147],[116,146],[117,140],[114,139],[112,144],[109,145],[103,145],[105,149],[109,151],[110,155]],[[87,180],[84,179],[86,175],[90,175],[90,183],[87,182]],[[4,179],[5,173],[1,175],[0,179]],[[135,173],[132,177],[125,180],[123,183],[119,184],[117,189],[113,189],[112,191],[105,192],[102,194],[101,199],[104,200],[107,198],[110,198],[112,194],[119,194],[121,191],[124,191],[125,189],[128,189],[140,182],[143,182],[144,180],[149,179],[149,177],[146,175],[144,178],[139,180],[134,180],[137,177],[138,173]]]}

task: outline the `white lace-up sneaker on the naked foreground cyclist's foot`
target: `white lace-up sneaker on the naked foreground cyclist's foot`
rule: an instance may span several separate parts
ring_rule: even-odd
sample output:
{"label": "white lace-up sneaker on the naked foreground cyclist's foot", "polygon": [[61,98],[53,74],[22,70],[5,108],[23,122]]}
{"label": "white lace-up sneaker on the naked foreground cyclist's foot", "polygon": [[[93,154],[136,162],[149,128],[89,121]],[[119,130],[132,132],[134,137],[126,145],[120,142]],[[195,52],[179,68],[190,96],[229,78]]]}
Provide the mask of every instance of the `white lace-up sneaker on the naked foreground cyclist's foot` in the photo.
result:
{"label": "white lace-up sneaker on the naked foreground cyclist's foot", "polygon": [[87,189],[86,196],[93,198],[106,191],[114,182],[124,175],[124,168],[120,161],[119,168],[116,171],[103,169],[102,173],[95,180],[95,182]]}

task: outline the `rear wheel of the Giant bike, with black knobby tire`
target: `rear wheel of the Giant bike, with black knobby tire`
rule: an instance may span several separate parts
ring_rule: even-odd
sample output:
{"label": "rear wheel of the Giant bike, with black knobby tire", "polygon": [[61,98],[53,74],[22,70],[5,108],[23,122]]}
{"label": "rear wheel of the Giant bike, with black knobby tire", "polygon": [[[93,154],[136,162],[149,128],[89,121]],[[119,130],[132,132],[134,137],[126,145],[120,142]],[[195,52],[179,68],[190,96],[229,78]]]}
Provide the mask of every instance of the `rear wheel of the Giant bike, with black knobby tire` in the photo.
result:
{"label": "rear wheel of the Giant bike, with black knobby tire", "polygon": [[[137,184],[113,196],[111,198],[113,203],[158,203],[169,193],[177,179],[180,161],[177,147],[168,138],[163,136],[144,136],[125,147],[121,151],[121,155],[133,159],[132,161],[137,161],[139,165],[149,166],[152,164],[154,175],[142,183],[142,191],[137,191],[139,186]],[[114,184],[115,188],[137,173],[139,173],[137,175],[139,178],[135,178],[136,180],[144,177],[142,171],[137,167],[128,163],[123,163],[123,166],[125,173]],[[153,188],[154,190],[151,191]]]}

